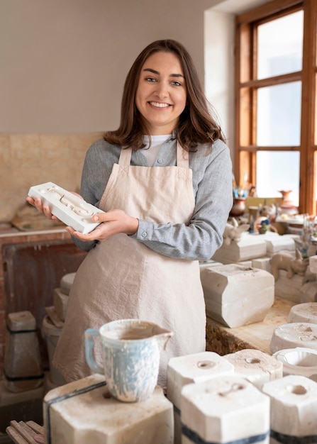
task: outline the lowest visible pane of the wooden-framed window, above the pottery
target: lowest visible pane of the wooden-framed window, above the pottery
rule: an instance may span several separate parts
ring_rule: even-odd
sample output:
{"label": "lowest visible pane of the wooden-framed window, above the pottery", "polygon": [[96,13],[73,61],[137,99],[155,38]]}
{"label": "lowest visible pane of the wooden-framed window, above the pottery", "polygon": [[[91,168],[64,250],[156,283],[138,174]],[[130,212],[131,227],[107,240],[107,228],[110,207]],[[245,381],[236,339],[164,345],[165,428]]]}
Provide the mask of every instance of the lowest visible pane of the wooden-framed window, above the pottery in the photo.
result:
{"label": "lowest visible pane of the wooden-framed window, above the pottery", "polygon": [[281,197],[289,191],[294,205],[299,205],[299,151],[257,152],[257,196]]}

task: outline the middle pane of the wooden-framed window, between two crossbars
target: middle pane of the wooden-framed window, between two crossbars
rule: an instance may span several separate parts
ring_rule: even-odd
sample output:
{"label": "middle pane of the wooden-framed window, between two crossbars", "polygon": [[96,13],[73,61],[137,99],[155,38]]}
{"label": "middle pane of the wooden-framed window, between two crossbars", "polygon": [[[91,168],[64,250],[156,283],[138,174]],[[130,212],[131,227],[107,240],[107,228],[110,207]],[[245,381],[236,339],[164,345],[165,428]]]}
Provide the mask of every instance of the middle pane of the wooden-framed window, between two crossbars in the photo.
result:
{"label": "middle pane of the wooden-framed window, between two crossbars", "polygon": [[298,146],[300,130],[301,82],[257,90],[257,145]]}

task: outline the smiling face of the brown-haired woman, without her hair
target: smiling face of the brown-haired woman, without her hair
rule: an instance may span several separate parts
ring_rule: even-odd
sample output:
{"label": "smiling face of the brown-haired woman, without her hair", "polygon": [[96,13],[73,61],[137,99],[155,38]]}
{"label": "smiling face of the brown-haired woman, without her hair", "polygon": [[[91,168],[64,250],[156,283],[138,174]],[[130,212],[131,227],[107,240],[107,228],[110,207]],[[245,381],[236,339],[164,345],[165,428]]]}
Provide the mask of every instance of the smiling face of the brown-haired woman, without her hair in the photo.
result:
{"label": "smiling face of the brown-haired woman, without her hair", "polygon": [[186,84],[173,52],[155,52],[141,68],[135,104],[151,135],[171,134],[186,106]]}

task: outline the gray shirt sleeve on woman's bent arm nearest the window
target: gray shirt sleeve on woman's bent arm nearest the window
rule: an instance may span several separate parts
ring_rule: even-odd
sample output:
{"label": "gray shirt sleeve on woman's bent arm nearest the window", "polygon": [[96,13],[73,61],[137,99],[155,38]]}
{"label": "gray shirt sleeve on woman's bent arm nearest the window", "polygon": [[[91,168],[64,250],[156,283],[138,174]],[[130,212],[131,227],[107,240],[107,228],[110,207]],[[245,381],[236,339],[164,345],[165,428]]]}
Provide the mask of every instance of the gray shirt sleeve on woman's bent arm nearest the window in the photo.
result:
{"label": "gray shirt sleeve on woman's bent arm nearest the window", "polygon": [[223,243],[233,205],[232,163],[229,149],[221,140],[213,144],[206,161],[193,157],[190,167],[197,189],[189,225],[140,220],[138,232],[132,237],[168,257],[208,260]]}

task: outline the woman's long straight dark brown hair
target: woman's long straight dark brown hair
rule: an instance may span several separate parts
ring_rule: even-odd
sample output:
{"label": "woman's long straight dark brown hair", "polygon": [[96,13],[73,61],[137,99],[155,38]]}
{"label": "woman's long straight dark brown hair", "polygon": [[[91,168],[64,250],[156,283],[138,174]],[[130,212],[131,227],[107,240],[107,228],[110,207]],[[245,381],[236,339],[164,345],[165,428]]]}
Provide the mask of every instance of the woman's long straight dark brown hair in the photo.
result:
{"label": "woman's long straight dark brown hair", "polygon": [[187,104],[179,116],[177,140],[187,151],[196,151],[198,143],[213,143],[224,140],[223,133],[211,115],[194,62],[189,52],[175,40],[156,40],[150,43],[135,59],[124,84],[121,101],[121,122],[116,131],[104,133],[104,140],[115,145],[128,145],[133,150],[143,148],[143,135],[149,135],[143,118],[135,105],[140,72],[148,57],[155,52],[174,53],[182,66],[187,87]]}

